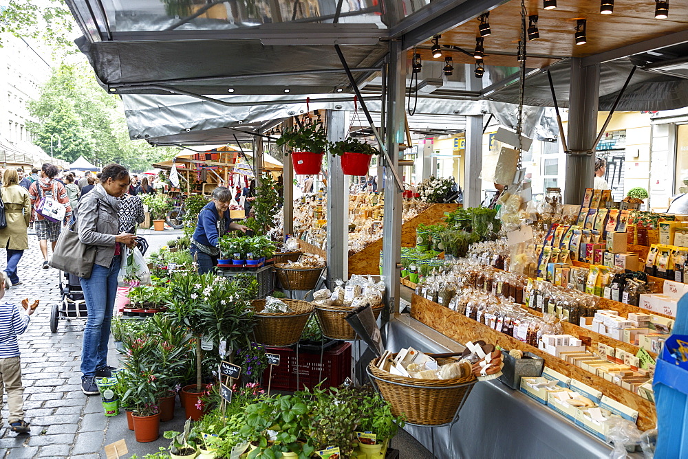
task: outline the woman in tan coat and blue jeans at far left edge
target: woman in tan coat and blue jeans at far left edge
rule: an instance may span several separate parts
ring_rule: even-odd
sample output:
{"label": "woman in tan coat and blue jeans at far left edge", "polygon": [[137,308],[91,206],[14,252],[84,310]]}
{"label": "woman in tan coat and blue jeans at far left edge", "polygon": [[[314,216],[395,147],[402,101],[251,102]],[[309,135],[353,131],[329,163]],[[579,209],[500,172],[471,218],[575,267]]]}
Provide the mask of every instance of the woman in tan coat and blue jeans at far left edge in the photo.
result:
{"label": "woman in tan coat and blue jeans at far left edge", "polygon": [[24,251],[29,248],[27,229],[31,221],[31,199],[29,192],[19,186],[19,174],[16,169],[8,169],[2,177],[0,196],[5,203],[7,226],[0,229],[0,247],[7,251],[5,273],[12,285],[19,285],[17,265]]}

